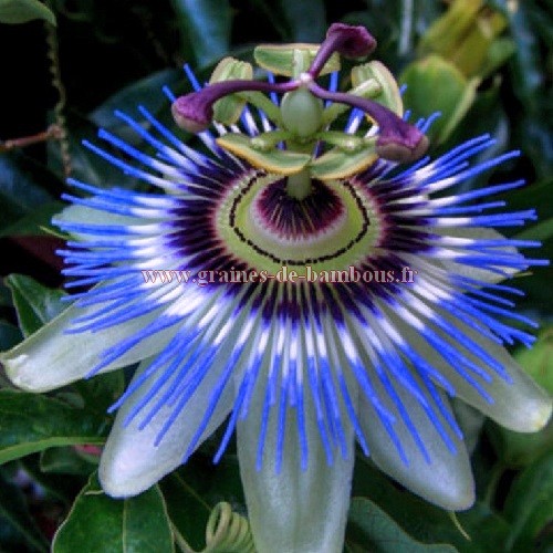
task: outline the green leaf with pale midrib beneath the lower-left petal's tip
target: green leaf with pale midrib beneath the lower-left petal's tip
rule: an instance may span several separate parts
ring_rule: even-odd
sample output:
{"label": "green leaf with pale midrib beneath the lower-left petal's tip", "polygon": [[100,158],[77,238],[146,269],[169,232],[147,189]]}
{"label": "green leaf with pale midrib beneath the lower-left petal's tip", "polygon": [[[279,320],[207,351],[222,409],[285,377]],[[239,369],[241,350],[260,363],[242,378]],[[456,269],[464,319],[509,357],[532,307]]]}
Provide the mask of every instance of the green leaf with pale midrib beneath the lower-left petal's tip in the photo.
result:
{"label": "green leaf with pale midrib beneath the lower-left petal's tip", "polygon": [[171,529],[157,486],[136,498],[112,499],[92,474],[52,543],[53,553],[75,551],[171,553]]}

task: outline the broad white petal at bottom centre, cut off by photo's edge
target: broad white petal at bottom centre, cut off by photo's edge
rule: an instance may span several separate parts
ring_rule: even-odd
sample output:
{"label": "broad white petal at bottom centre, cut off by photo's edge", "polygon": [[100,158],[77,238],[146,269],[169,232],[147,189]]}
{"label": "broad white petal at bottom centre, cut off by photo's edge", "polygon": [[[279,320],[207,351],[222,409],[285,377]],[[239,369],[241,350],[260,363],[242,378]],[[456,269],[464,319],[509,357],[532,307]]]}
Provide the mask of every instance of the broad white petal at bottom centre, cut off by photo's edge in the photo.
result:
{"label": "broad white petal at bottom centre, cut off by photo's edge", "polygon": [[307,468],[301,469],[294,408],[288,411],[282,468],[276,473],[276,399],[271,409],[263,465],[258,471],[255,460],[263,399],[264,388],[258,385],[248,417],[238,425],[240,473],[257,551],[342,552],[354,465],[351,426],[344,419],[347,460],[335,450],[334,463],[328,466],[312,401],[305,398]]}

